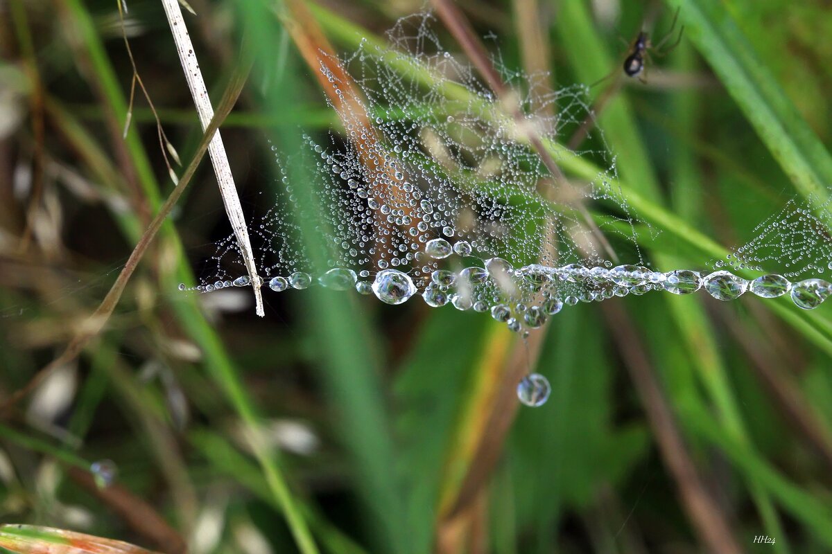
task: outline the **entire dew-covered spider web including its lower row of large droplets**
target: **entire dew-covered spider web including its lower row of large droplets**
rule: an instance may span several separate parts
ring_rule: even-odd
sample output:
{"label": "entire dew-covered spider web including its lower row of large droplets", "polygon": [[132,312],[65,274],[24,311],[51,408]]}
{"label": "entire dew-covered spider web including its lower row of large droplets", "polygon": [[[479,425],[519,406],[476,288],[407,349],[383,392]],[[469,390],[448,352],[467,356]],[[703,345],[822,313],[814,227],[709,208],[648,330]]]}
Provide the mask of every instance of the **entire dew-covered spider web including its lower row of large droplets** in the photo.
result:
{"label": "entire dew-covered spider web including its lower row of large droplets", "polygon": [[[495,57],[506,83],[497,94],[442,47],[435,27],[422,13],[400,20],[385,46],[321,54],[342,126],[323,140],[305,136],[304,154],[275,154],[277,198],[250,230],[261,239],[264,286],[355,289],[389,304],[421,296],[428,306],[488,311],[522,332],[563,306],[653,290],[704,288],[720,300],[790,294],[806,309],[830,295],[820,279],[793,282],[832,260],[825,208],[787,205],[760,224],[758,238],[712,262],[714,272],[651,267],[636,224],[648,229],[641,240],[655,232],[617,186],[615,145],[591,130],[585,150],[562,146],[587,119],[587,87],[541,94],[535,84],[548,76],[511,71]],[[314,169],[313,186],[293,182],[292,164]],[[314,202],[299,200],[300,187]],[[329,249],[323,271],[310,262],[302,218],[317,222]],[[200,291],[250,284],[238,277],[245,268],[233,237],[218,243],[214,261]],[[770,262],[783,274],[750,281],[726,269]]]}

